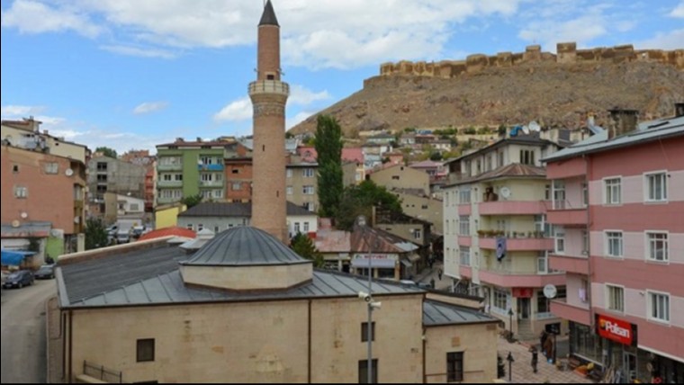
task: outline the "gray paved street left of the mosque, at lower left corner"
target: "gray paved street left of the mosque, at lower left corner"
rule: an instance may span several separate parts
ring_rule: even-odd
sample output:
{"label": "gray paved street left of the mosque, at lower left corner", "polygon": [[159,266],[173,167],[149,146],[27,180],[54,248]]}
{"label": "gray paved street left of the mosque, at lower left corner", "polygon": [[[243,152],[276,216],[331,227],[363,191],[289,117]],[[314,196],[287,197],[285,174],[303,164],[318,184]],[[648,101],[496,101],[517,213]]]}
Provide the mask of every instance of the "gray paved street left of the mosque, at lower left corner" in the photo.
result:
{"label": "gray paved street left of the mosque, at lower left corner", "polygon": [[45,301],[55,280],[2,291],[2,383],[46,382]]}

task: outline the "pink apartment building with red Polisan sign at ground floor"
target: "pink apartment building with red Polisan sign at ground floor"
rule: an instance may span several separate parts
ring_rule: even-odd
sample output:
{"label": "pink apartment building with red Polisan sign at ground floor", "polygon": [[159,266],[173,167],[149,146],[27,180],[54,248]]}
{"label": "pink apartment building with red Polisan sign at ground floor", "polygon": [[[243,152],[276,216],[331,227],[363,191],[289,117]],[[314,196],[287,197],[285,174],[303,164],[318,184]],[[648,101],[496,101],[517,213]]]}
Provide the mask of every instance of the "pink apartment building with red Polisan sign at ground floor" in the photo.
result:
{"label": "pink apartment building with red Polisan sign at ground floor", "polygon": [[608,130],[546,157],[549,267],[566,272],[571,354],[624,381],[684,382],[684,116]]}

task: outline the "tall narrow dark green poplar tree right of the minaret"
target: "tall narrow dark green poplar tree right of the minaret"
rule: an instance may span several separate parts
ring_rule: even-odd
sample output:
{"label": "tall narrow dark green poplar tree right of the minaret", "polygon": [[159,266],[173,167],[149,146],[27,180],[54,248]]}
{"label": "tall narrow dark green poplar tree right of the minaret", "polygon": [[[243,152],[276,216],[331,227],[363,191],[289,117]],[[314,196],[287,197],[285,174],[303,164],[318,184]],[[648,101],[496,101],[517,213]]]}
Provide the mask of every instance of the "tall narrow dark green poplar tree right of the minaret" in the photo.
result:
{"label": "tall narrow dark green poplar tree right of the minaret", "polygon": [[318,189],[321,217],[334,217],[344,191],[342,171],[342,129],[329,115],[319,115],[316,126]]}

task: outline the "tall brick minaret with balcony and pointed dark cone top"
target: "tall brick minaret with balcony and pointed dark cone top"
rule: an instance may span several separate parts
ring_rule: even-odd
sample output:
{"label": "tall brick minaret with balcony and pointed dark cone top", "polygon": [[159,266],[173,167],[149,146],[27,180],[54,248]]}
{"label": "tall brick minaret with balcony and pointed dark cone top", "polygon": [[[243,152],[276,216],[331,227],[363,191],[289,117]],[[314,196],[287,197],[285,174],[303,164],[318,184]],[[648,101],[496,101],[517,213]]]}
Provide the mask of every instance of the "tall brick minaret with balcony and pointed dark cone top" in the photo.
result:
{"label": "tall brick minaret with balcony and pointed dark cone top", "polygon": [[258,27],[254,105],[252,226],[289,243],[285,201],[285,103],[290,86],[280,81],[280,26],[271,0]]}

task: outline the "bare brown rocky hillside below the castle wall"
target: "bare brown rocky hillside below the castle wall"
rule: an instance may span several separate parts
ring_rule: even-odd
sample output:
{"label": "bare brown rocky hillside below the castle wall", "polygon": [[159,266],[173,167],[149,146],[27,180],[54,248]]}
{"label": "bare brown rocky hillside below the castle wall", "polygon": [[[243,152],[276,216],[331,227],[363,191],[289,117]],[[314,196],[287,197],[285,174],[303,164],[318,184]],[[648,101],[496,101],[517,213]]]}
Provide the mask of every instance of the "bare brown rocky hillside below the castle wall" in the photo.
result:
{"label": "bare brown rocky hillside below the castle wall", "polygon": [[[514,125],[535,120],[544,126],[578,128],[588,113],[604,124],[607,110],[626,108],[641,119],[671,116],[684,102],[684,72],[649,62],[556,65],[536,62],[488,67],[454,78],[375,76],[364,89],[320,113],[340,121],[345,135],[408,127]],[[313,132],[316,116],[293,127]]]}

